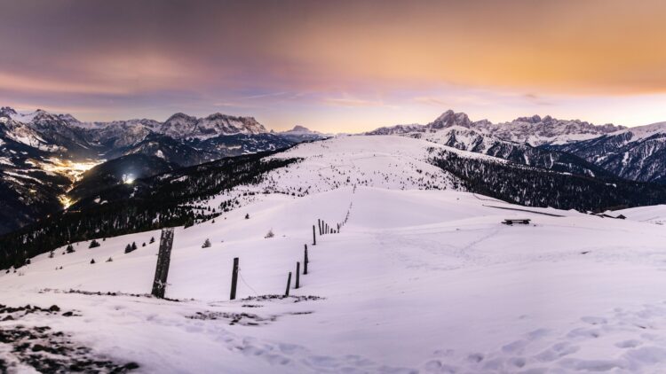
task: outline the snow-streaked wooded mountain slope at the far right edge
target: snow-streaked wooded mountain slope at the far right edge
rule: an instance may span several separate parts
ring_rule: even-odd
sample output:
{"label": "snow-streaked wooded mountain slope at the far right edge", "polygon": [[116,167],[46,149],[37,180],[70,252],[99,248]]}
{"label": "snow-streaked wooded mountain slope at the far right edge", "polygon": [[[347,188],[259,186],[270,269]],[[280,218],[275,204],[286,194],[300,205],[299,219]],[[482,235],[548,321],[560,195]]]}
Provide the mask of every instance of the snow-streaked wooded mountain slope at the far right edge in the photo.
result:
{"label": "snow-streaked wooded mountain slope at the far right edge", "polygon": [[666,122],[553,145],[551,149],[571,152],[623,178],[666,183]]}

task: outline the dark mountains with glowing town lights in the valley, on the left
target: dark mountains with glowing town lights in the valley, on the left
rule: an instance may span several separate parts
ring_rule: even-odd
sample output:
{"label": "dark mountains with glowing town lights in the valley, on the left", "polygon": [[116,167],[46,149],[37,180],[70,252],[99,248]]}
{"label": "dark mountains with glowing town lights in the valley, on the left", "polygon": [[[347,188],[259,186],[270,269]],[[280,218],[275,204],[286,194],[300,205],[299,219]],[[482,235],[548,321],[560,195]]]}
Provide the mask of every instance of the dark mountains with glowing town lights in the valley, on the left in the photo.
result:
{"label": "dark mountains with glowing town lights in the valley, on the left", "polygon": [[[0,108],[0,207],[11,207],[15,213],[6,217],[0,213],[0,218],[6,218],[0,233],[83,199],[94,189],[76,187],[76,175],[99,163],[111,162],[106,167],[114,168],[133,160],[137,168],[145,163],[145,168],[163,171],[164,165],[189,167],[229,156],[275,151],[321,137],[305,131],[271,133],[252,117],[222,113],[202,118],[176,113],[163,122],[82,122],[70,114],[43,110],[19,113],[4,106]],[[116,159],[121,160],[113,162]],[[163,165],[158,168],[159,163]],[[117,178],[112,179],[110,185],[117,182]],[[94,180],[101,183],[106,179]],[[83,185],[94,183],[89,178]],[[75,190],[69,191],[72,188]]]}

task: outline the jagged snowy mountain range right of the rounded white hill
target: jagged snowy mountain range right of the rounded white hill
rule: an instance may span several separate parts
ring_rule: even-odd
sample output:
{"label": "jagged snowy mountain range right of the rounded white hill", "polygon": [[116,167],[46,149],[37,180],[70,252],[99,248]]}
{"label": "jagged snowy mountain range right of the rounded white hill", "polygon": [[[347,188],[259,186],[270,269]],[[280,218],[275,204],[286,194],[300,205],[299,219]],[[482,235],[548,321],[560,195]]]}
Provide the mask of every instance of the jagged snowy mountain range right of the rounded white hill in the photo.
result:
{"label": "jagged snowy mountain range right of the rounded white hill", "polygon": [[503,123],[471,121],[451,110],[426,125],[396,125],[367,135],[399,135],[478,152],[528,166],[583,175],[666,182],[666,122],[625,128],[551,116]]}

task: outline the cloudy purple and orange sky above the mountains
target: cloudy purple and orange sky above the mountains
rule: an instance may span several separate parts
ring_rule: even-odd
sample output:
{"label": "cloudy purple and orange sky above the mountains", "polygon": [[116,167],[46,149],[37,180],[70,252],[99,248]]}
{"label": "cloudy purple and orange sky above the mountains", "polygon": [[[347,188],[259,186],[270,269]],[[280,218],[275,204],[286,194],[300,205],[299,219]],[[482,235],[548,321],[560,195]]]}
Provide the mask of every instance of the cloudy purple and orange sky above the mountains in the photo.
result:
{"label": "cloudy purple and orange sky above the mountains", "polygon": [[666,121],[662,0],[0,0],[0,14],[0,106],[82,121]]}

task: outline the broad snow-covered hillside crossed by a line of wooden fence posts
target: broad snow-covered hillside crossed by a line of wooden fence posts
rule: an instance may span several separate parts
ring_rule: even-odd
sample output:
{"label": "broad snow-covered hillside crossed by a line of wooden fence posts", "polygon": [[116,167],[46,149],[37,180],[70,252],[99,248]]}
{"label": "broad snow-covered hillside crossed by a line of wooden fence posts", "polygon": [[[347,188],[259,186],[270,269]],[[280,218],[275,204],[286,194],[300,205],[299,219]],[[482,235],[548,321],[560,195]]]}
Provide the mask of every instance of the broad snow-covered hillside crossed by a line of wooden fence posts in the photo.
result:
{"label": "broad snow-covered hillside crossed by a line of wooden fence posts", "polygon": [[[275,156],[305,160],[244,189],[282,193],[175,230],[166,296],[178,302],[127,295],[150,292],[157,243],[148,242],[159,231],[37,256],[0,274],[2,302],[81,316],[33,314],[0,328],[48,324],[99,355],[138,362],[139,372],[666,370],[662,226],[400,183],[428,172],[448,186],[449,175],[424,163],[426,144],[343,136]],[[313,187],[296,193],[305,185]],[[336,226],[347,214],[341,233],[312,245],[317,219]],[[131,242],[139,249],[123,253]],[[281,294],[305,244],[308,275],[290,292],[323,299],[229,300],[234,257],[239,299]],[[224,313],[248,316],[230,324]]]}

